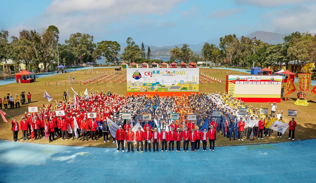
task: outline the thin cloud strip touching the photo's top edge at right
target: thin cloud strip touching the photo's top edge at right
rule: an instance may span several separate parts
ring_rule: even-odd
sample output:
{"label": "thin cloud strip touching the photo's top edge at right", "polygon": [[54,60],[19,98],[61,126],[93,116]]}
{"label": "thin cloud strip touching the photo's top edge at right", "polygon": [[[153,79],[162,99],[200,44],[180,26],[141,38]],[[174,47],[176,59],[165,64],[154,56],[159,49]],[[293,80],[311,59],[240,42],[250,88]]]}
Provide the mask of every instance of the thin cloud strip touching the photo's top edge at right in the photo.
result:
{"label": "thin cloud strip touching the photo's top edge at right", "polygon": [[235,0],[235,3],[237,4],[246,4],[258,7],[276,7],[309,2],[315,2],[315,0]]}

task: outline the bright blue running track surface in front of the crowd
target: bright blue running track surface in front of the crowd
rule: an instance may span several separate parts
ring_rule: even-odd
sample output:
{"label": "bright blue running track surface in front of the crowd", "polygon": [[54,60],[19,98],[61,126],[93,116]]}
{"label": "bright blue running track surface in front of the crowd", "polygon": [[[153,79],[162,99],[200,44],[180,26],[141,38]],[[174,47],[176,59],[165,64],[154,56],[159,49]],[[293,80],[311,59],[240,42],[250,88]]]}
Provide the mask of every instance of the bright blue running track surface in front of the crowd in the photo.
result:
{"label": "bright blue running track surface in front of the crowd", "polygon": [[316,139],[180,153],[0,140],[0,181],[316,182],[315,154]]}

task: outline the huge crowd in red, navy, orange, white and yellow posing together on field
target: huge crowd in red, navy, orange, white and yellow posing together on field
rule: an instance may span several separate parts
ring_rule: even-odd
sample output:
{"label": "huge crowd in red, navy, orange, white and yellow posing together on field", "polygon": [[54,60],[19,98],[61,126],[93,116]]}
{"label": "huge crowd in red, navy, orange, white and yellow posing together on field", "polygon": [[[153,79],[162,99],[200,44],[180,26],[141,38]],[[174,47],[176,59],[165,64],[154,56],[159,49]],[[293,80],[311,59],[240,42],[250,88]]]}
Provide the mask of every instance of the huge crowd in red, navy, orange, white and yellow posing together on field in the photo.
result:
{"label": "huge crowd in red, navy, orange, white and yellow posing together on field", "polygon": [[[22,92],[23,93],[23,92]],[[9,95],[9,94],[8,94]],[[27,114],[19,123],[12,119],[11,124],[14,141],[19,141],[17,134],[22,130],[22,140],[30,139],[34,132],[34,139],[45,137],[45,128],[49,132],[49,142],[61,140],[86,140],[90,143],[102,139],[104,143],[116,143],[118,152],[120,146],[124,152],[124,143],[127,143],[128,151],[134,152],[134,143],[137,144],[137,152],[176,151],[180,152],[182,142],[183,151],[206,151],[209,142],[209,151],[214,151],[216,136],[226,137],[228,140],[243,141],[244,138],[270,139],[273,131],[268,128],[274,121],[285,123],[276,103],[271,104],[271,114],[262,115],[258,108],[254,108],[243,101],[228,94],[218,93],[191,93],[186,96],[158,96],[158,95],[131,95],[121,96],[116,93],[91,92],[89,96],[76,95],[67,99],[64,92],[64,100],[58,100],[55,104],[49,103],[40,108],[38,113]],[[239,115],[239,108],[247,108],[246,115]],[[55,110],[62,109],[65,115],[57,117]],[[221,115],[212,116],[213,110],[221,111]],[[90,119],[88,112],[96,112],[96,118]],[[123,113],[131,113],[131,119],[124,120]],[[171,120],[170,113],[179,113],[179,120]],[[151,119],[143,120],[143,114],[151,114]],[[189,121],[188,115],[196,114],[196,121]],[[107,123],[109,118],[119,126],[115,137],[111,136]],[[76,122],[74,122],[76,121]],[[139,123],[138,131],[131,131],[132,127]],[[76,127],[77,133],[75,135]],[[294,118],[289,121],[289,139],[294,140],[296,122]],[[144,131],[142,131],[142,128]],[[291,136],[292,134],[292,136]],[[110,136],[110,137],[109,137]],[[281,133],[277,133],[282,138]],[[81,139],[80,139],[81,138]],[[139,145],[141,146],[139,148]],[[144,148],[143,148],[144,145]]]}

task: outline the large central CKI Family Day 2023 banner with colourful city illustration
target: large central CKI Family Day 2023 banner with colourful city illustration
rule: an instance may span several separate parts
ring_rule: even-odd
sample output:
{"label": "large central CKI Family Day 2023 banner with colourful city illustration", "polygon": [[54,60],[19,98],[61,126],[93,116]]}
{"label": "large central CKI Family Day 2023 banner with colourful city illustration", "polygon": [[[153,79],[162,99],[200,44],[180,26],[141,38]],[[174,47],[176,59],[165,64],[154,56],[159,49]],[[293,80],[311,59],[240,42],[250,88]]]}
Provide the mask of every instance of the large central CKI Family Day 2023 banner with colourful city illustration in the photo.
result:
{"label": "large central CKI Family Day 2023 banner with colourful city illustration", "polygon": [[199,68],[127,68],[127,92],[198,92]]}

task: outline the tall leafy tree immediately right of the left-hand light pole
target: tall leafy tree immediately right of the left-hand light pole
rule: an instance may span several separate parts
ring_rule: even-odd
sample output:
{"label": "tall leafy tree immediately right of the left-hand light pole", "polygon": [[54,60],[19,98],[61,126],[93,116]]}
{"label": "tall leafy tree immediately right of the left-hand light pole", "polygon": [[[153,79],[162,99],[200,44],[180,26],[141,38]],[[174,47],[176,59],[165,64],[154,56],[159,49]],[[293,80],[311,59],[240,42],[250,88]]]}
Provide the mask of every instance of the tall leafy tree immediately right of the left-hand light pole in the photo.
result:
{"label": "tall leafy tree immediately right of the left-hand light pole", "polygon": [[[82,34],[80,32],[71,34],[70,38],[68,40],[65,40],[65,43],[68,44],[73,50],[73,53],[79,60],[80,64],[82,64],[84,61],[88,62],[95,48],[95,44],[93,43],[93,36],[89,34]],[[74,63],[76,65],[76,61]]]}

